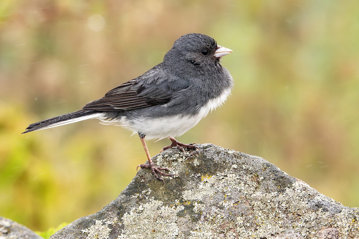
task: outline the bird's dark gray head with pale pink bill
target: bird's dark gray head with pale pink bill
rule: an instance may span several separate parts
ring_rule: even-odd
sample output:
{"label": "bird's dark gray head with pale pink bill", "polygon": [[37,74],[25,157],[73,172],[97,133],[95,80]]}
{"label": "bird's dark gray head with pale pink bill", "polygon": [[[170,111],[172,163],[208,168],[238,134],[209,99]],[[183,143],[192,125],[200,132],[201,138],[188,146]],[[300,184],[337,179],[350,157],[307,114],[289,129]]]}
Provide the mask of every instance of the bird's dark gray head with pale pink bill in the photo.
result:
{"label": "bird's dark gray head with pale pink bill", "polygon": [[177,39],[171,50],[163,59],[167,66],[196,68],[200,72],[220,70],[220,57],[231,53],[232,50],[218,46],[216,41],[204,34],[190,33]]}

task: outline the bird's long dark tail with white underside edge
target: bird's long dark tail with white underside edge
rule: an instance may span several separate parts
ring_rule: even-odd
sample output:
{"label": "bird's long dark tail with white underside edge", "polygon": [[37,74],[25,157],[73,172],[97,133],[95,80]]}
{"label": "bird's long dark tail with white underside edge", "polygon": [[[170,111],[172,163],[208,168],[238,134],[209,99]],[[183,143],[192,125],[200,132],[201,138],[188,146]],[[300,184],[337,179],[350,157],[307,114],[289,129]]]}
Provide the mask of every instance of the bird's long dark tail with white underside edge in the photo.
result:
{"label": "bird's long dark tail with white underside edge", "polygon": [[102,118],[104,115],[101,112],[93,110],[78,110],[73,113],[56,116],[55,118],[43,120],[37,123],[29,125],[24,133],[29,133],[31,131],[48,129],[52,127],[57,127],[60,125],[71,124],[81,120]]}

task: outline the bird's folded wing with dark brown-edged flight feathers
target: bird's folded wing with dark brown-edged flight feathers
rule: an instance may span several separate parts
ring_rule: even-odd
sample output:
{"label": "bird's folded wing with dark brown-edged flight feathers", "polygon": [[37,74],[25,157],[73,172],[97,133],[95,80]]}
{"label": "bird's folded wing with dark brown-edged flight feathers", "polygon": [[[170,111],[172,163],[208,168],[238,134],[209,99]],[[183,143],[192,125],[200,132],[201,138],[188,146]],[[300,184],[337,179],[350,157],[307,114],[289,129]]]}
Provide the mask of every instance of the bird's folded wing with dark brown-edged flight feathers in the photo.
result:
{"label": "bird's folded wing with dark brown-edged flight feathers", "polygon": [[127,81],[82,109],[98,111],[134,110],[166,104],[174,92],[189,87],[186,79],[165,73],[160,64],[143,75]]}

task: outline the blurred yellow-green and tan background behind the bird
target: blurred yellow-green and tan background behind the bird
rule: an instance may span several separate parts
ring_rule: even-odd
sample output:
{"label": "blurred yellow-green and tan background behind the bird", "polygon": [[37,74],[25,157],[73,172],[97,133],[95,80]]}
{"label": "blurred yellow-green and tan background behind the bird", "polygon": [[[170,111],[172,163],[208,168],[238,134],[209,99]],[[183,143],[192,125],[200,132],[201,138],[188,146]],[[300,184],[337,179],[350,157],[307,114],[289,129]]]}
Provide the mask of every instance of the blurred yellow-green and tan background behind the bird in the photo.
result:
{"label": "blurred yellow-green and tan background behind the bird", "polygon": [[[359,206],[358,1],[0,3],[0,215],[33,230],[101,210],[146,161],[131,132],[87,120],[20,134],[160,63],[191,32],[233,53],[223,107],[178,138],[265,158]],[[151,156],[169,140],[148,141]]]}

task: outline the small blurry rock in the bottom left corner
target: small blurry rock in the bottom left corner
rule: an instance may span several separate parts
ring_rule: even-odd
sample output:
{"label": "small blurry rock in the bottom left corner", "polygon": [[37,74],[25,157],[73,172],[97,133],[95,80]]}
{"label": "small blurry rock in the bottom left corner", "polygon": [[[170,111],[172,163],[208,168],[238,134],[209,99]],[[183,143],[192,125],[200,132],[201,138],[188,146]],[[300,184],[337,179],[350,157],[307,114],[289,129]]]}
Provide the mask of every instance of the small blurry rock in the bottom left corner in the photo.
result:
{"label": "small blurry rock in the bottom left corner", "polygon": [[27,227],[0,217],[0,239],[43,239]]}

